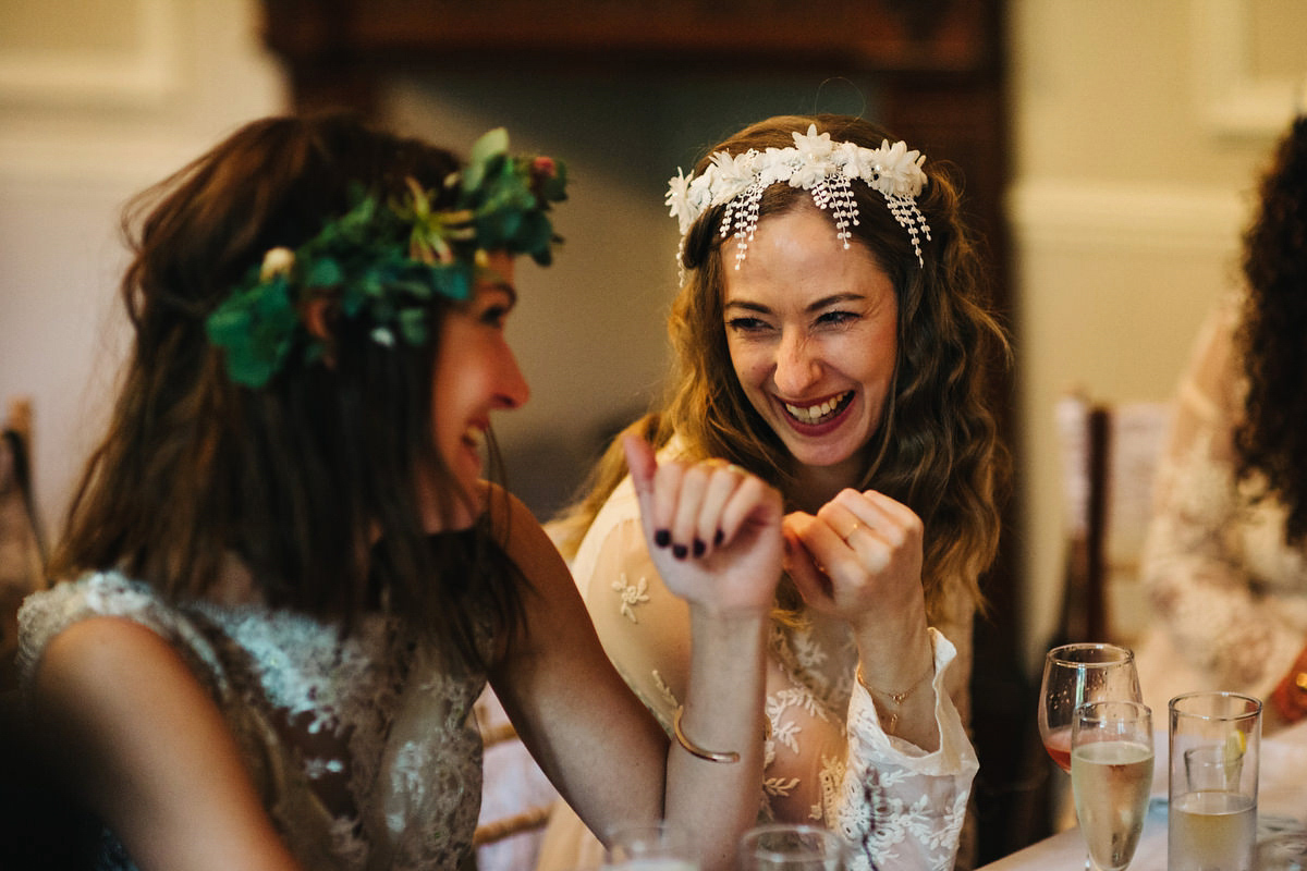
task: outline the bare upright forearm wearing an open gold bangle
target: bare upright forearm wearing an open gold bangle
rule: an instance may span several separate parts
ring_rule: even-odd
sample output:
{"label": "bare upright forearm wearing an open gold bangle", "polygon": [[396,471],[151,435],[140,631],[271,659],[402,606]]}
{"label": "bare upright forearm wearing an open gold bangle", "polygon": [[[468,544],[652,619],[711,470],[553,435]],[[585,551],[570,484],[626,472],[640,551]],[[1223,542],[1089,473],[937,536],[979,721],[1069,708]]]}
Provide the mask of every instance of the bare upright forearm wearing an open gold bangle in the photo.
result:
{"label": "bare upright forearm wearing an open gold bangle", "polygon": [[668,820],[691,832],[704,871],[729,868],[740,836],[754,825],[762,793],[763,667],[769,615],[710,615],[691,609],[690,679],[681,730],[698,748],[736,761],[668,751]]}

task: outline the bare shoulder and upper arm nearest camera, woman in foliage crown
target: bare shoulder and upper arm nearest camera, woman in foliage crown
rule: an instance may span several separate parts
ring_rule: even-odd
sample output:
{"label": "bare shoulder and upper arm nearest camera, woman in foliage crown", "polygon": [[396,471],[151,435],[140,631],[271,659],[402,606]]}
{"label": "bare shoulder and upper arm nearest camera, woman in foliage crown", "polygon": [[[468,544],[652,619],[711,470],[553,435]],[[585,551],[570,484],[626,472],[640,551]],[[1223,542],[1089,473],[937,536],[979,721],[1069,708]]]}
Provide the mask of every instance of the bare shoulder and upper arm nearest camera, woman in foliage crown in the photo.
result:
{"label": "bare shoulder and upper arm nearest camera, woman in foliage crown", "polygon": [[33,691],[47,740],[76,760],[73,787],[139,867],[295,867],[222,709],[166,637],[80,620],[50,641]]}

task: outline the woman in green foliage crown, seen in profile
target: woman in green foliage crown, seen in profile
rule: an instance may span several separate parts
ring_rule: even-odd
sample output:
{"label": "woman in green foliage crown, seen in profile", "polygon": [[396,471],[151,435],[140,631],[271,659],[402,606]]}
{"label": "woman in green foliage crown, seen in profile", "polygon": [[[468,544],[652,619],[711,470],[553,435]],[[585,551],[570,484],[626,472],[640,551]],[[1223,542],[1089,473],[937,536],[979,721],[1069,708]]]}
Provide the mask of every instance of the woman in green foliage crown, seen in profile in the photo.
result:
{"label": "woman in green foliage crown, seen in profile", "polygon": [[[703,868],[732,864],[762,780],[780,496],[629,444],[651,534],[721,530],[711,563],[664,565],[695,631],[684,733],[733,760],[706,761],[482,481],[491,415],[528,397],[516,256],[549,262],[565,182],[507,145],[460,166],[349,116],[265,119],[132,213],[123,392],[60,582],[20,616],[33,734],[105,824],[88,864],[465,868],[486,683],[596,829],[665,815]],[[682,475],[712,499],[669,490]]]}

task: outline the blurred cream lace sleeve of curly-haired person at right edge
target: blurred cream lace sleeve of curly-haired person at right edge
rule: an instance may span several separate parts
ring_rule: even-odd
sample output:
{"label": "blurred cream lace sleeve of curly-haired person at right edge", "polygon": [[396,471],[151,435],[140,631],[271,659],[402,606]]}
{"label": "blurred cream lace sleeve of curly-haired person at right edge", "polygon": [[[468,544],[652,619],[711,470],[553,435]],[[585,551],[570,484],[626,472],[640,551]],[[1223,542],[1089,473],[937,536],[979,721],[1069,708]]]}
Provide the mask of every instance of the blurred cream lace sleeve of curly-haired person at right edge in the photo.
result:
{"label": "blurred cream lace sleeve of curly-haired person at right edge", "polygon": [[[1141,572],[1154,619],[1185,665],[1216,686],[1265,696],[1302,648],[1291,609],[1266,595],[1249,565],[1265,560],[1247,545],[1265,525],[1235,481],[1233,430],[1240,375],[1233,345],[1233,307],[1200,333],[1185,372],[1167,453],[1158,469],[1153,520]],[[1285,551],[1282,526],[1264,550]]]}

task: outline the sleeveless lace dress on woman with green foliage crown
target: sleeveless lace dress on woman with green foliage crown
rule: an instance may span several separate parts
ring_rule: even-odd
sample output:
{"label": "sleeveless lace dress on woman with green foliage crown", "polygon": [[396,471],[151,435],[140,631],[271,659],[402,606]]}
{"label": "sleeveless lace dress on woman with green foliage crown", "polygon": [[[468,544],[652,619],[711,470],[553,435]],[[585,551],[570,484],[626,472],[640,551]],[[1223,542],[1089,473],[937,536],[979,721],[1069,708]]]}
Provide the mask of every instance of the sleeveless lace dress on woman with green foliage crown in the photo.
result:
{"label": "sleeveless lace dress on woman with green foliage crown", "polygon": [[[482,675],[452,678],[397,622],[335,626],[260,605],[166,605],[106,572],[27,598],[20,667],[90,616],[135,620],[171,642],[222,709],[264,807],[306,868],[457,868],[481,794],[469,722]],[[482,633],[485,635],[485,633]],[[101,868],[131,868],[106,833]]]}

